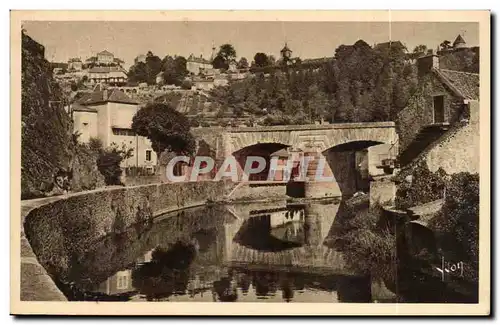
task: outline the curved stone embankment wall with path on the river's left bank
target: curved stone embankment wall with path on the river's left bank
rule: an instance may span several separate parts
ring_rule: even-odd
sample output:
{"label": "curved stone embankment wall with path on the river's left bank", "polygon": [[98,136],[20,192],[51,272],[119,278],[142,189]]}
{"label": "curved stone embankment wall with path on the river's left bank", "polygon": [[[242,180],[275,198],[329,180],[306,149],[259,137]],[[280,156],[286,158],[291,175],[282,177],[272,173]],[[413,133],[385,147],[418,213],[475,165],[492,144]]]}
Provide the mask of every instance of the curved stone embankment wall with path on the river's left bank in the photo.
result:
{"label": "curved stone embankment wall with path on the river's left bank", "polygon": [[[31,259],[30,263],[37,266],[36,272],[44,278],[43,286],[35,290],[38,284],[33,272],[21,267],[21,300],[61,300],[46,273],[62,279],[69,277],[68,266],[78,262],[83,252],[103,236],[136,223],[143,218],[143,211],[156,216],[220,200],[225,192],[223,182],[207,181],[107,188],[42,200],[39,206],[33,201],[22,202],[21,254]],[[28,208],[30,204],[34,208]],[[47,296],[47,290],[56,293]]]}

